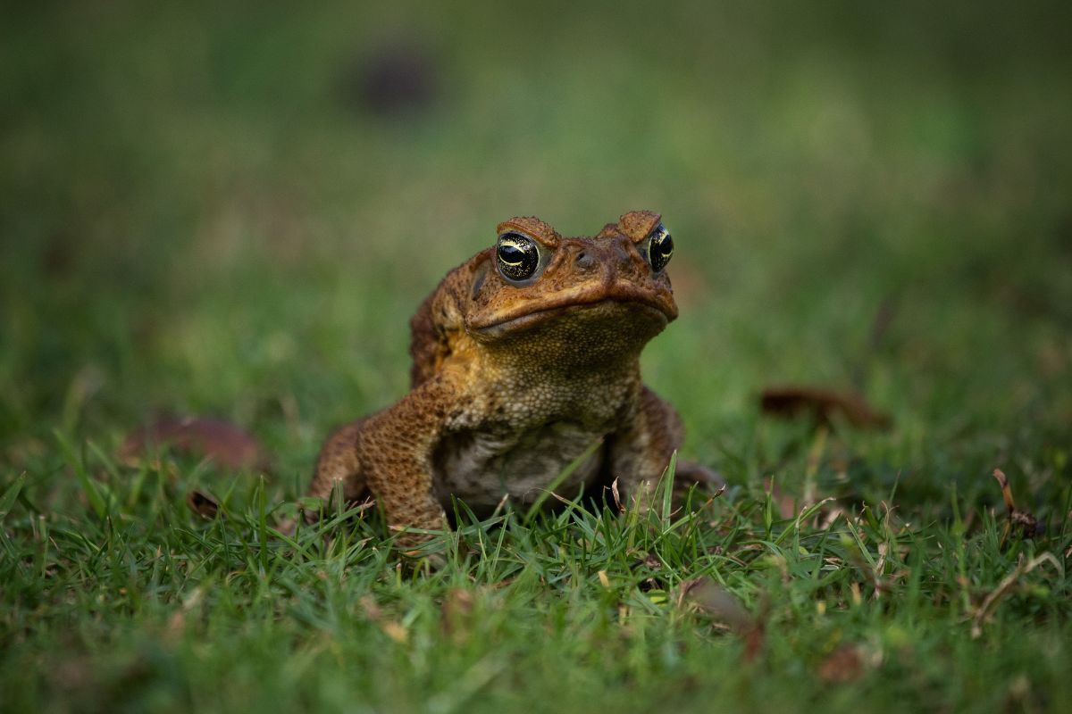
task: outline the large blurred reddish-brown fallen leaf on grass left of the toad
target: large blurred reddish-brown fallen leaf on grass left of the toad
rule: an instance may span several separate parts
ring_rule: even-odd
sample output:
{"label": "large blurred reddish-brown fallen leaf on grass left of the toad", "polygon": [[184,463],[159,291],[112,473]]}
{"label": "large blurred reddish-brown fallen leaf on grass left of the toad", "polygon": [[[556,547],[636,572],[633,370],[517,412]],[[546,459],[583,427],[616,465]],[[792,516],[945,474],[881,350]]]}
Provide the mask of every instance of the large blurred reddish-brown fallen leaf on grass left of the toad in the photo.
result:
{"label": "large blurred reddish-brown fallen leaf on grass left of the toad", "polygon": [[159,446],[212,459],[225,469],[266,469],[260,443],[241,427],[219,419],[163,417],[133,431],[119,451],[120,458],[136,466]]}

